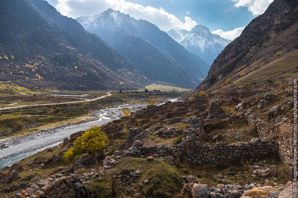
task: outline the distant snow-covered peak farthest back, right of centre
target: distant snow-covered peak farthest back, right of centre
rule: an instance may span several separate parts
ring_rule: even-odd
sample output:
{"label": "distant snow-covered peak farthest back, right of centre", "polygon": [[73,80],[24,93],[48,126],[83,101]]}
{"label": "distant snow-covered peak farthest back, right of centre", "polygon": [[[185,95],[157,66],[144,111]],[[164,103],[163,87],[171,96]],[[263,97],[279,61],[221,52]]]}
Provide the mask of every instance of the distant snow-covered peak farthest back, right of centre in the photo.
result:
{"label": "distant snow-covered peak farthest back, right of centre", "polygon": [[191,31],[171,29],[167,33],[187,51],[198,55],[209,64],[231,43],[231,40],[212,34],[209,28],[202,25],[196,25]]}

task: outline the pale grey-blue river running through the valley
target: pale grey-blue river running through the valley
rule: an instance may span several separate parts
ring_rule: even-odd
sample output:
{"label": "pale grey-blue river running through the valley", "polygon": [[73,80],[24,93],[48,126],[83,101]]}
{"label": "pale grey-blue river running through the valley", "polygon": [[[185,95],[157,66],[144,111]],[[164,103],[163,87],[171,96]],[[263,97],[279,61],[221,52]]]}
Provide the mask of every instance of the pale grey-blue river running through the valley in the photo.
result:
{"label": "pale grey-blue river running through the valley", "polygon": [[[174,102],[177,99],[169,99]],[[168,100],[167,100],[168,101]],[[20,138],[13,138],[5,141],[8,148],[0,147],[0,169],[9,166],[24,158],[27,158],[46,148],[57,146],[63,142],[64,138],[69,138],[71,134],[84,131],[92,124],[103,125],[123,116],[123,108],[128,108],[130,111],[145,108],[147,105],[117,105],[112,108],[107,108],[97,111],[95,114],[97,119],[94,121],[71,124],[65,127],[59,127],[51,130],[46,130],[38,133],[31,133]],[[3,142],[2,142],[3,143]]]}

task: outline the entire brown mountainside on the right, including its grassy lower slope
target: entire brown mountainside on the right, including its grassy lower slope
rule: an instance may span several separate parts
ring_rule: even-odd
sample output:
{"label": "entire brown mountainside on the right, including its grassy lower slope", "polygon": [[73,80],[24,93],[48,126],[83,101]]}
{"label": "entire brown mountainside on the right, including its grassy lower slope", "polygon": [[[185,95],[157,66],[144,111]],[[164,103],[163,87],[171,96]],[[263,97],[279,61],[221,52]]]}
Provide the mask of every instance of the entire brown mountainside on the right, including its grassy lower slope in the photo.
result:
{"label": "entire brown mountainside on the right, including its grassy lower slope", "polygon": [[241,85],[270,82],[285,76],[285,72],[293,75],[298,53],[297,22],[297,1],[273,1],[218,55],[195,93],[230,85],[226,79]]}

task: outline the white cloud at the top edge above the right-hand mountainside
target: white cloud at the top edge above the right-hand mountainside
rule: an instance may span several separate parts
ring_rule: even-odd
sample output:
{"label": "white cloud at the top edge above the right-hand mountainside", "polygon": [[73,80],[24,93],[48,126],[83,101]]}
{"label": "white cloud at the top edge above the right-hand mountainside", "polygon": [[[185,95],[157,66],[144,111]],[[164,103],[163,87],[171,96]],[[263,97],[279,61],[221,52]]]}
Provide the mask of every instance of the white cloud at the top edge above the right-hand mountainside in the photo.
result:
{"label": "white cloud at the top edge above the right-hand mountainside", "polygon": [[248,10],[253,13],[253,15],[260,15],[265,12],[267,7],[273,2],[273,0],[232,0],[236,2],[235,6],[248,7]]}

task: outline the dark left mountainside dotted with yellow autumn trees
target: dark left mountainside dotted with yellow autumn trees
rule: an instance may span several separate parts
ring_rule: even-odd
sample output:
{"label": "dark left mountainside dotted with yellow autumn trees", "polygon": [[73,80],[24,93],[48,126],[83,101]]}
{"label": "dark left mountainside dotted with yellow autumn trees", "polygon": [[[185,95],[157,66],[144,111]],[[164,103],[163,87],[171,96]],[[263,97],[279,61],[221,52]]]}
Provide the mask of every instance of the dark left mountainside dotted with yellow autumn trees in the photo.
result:
{"label": "dark left mountainside dotted with yellow autumn trees", "polygon": [[131,62],[77,21],[46,1],[30,2],[9,0],[0,8],[1,81],[88,90],[148,83]]}

